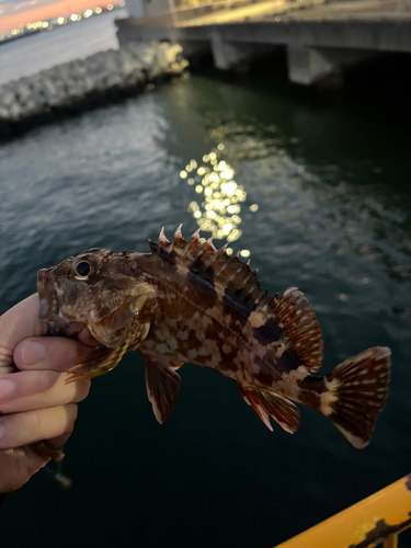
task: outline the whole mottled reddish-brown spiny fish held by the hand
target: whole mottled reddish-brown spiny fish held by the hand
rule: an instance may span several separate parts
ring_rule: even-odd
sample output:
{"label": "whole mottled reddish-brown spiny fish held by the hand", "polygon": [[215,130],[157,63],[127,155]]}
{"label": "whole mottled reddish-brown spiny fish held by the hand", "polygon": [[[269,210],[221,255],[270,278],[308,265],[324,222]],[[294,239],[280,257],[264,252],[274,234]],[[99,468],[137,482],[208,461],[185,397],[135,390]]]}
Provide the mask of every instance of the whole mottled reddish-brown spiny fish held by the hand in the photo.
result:
{"label": "whole mottled reddish-brown spiny fish held by the hand", "polygon": [[37,275],[42,319],[50,334],[76,336],[84,326],[100,347],[79,358],[67,381],[111,372],[126,352],[145,362],[148,399],[158,422],[172,413],[184,364],[237,383],[262,422],[296,432],[307,406],[329,419],[356,448],[369,443],[385,406],[390,350],[370,347],[317,375],[323,338],[296,287],[269,297],[258,271],[217,250],[199,230],[171,241],[162,229],[150,252],[89,249]]}

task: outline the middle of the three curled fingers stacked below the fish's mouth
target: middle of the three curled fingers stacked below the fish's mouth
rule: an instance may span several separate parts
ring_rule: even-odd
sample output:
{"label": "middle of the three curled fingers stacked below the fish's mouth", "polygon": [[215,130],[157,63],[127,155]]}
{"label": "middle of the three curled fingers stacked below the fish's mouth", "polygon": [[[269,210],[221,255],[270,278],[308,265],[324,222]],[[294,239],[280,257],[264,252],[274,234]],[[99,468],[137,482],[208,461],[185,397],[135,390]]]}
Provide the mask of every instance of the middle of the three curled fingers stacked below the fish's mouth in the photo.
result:
{"label": "middle of the three curled fingers stacked below the fish's mouth", "polygon": [[0,412],[78,403],[89,393],[90,381],[66,385],[67,375],[52,370],[19,372],[0,378]]}

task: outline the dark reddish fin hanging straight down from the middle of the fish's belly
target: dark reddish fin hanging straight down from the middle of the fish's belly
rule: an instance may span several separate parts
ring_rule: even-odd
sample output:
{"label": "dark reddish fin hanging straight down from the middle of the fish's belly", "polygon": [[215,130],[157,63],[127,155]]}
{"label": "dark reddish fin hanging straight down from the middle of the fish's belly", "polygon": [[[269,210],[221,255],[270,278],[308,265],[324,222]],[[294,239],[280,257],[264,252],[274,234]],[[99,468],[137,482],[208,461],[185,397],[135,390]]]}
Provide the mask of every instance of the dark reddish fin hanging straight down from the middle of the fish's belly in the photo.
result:
{"label": "dark reddish fin hanging straight down from the middle of the fish's belly", "polygon": [[162,424],[175,406],[180,391],[180,376],[173,370],[181,362],[172,362],[165,356],[145,356],[147,396],[151,401],[156,419]]}

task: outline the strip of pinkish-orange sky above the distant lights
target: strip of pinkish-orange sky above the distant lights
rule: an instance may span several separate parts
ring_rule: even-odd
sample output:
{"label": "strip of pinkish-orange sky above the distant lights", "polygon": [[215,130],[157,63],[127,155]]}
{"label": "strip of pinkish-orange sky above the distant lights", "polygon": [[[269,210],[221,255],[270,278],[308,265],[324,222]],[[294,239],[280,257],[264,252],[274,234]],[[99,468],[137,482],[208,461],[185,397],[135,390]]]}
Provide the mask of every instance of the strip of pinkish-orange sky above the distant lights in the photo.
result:
{"label": "strip of pinkish-orange sky above the distant lights", "polygon": [[42,5],[32,10],[21,11],[15,15],[0,16],[0,32],[12,31],[21,24],[34,23],[46,19],[56,18],[59,15],[69,15],[70,13],[82,13],[87,8],[95,8],[98,5],[106,5],[110,0],[67,0],[56,2],[50,5]]}

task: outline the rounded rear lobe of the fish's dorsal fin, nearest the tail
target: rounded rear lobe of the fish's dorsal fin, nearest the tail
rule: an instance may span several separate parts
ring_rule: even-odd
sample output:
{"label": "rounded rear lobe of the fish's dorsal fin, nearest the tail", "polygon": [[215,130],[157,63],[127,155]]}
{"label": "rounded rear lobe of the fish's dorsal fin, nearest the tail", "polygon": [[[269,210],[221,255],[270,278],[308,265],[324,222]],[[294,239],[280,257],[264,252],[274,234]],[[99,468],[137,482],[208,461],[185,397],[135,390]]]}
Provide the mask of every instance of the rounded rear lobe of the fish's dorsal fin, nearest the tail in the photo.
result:
{"label": "rounded rear lobe of the fish's dorsal fin, nearest the tail", "polygon": [[290,287],[283,295],[272,298],[266,308],[282,328],[300,365],[310,373],[317,373],[321,367],[324,344],[316,312],[304,293]]}

